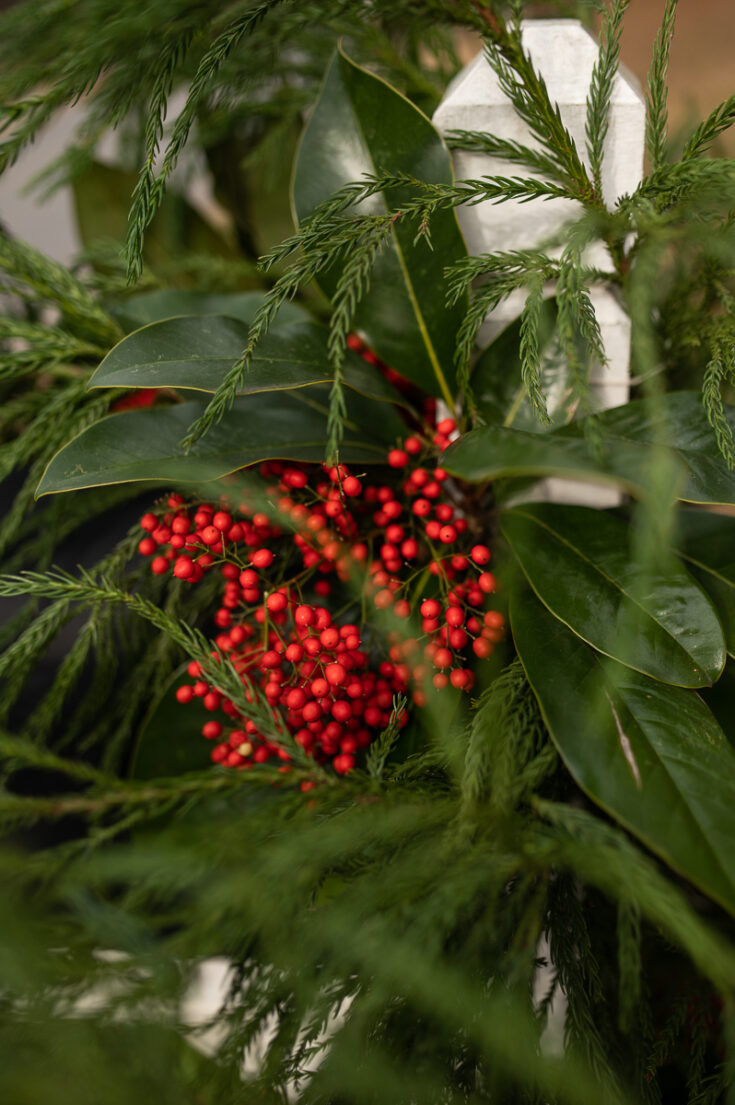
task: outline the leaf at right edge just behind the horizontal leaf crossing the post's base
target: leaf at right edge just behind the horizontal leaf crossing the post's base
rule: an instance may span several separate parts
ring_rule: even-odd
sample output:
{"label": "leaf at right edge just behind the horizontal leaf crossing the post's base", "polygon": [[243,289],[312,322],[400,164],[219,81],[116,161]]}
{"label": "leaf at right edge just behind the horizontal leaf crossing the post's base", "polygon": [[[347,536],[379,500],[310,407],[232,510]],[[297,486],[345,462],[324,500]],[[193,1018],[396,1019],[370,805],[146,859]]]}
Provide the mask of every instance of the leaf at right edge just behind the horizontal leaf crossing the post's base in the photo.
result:
{"label": "leaf at right edge just behind the horizontal leaf crossing the post's base", "polygon": [[[727,409],[727,419],[735,431],[735,409]],[[672,391],[655,399],[637,399],[602,411],[596,421],[611,450],[629,442],[671,450],[686,471],[686,481],[678,496],[684,502],[735,503],[735,472],[727,467],[717,450],[699,392]],[[559,430],[556,436],[582,433],[580,421]]]}

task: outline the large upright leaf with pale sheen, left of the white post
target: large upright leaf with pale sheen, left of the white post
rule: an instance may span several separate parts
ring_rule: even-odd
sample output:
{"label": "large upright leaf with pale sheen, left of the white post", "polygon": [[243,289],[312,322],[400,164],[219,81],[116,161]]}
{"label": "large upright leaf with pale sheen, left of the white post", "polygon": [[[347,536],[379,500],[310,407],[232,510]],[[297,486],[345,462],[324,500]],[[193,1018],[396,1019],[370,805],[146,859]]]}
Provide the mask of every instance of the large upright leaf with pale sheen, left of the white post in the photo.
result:
{"label": "large upright leaf with pale sheen, left of the white post", "polygon": [[[376,172],[453,181],[449,150],[429,119],[385,81],[337,52],[296,158],[298,221],[345,185]],[[391,189],[361,204],[360,213],[397,212],[416,198],[410,187]],[[397,219],[354,326],[382,360],[453,406],[455,338],[465,304],[447,306],[443,271],[466,250],[453,211],[432,217],[433,248],[423,239],[414,244],[417,229],[414,221]],[[327,295],[334,294],[338,278],[338,265],[319,277]]]}

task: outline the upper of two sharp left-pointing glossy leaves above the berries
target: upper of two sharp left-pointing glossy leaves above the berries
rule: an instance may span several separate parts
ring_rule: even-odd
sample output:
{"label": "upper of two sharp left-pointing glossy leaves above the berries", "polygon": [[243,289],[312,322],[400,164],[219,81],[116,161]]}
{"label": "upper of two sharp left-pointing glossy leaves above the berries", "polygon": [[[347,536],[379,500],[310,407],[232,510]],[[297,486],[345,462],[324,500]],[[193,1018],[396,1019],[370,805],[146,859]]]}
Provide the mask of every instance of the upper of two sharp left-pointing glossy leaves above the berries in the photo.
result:
{"label": "upper of two sharp left-pointing glossy leaves above the berries", "polygon": [[[187,388],[217,391],[248,345],[248,326],[220,315],[168,318],[135,330],[112,349],[91,388]],[[259,344],[240,394],[325,383],[333,370],[327,330],[312,322],[279,326]],[[371,399],[402,401],[372,365],[347,350],[345,383]]]}

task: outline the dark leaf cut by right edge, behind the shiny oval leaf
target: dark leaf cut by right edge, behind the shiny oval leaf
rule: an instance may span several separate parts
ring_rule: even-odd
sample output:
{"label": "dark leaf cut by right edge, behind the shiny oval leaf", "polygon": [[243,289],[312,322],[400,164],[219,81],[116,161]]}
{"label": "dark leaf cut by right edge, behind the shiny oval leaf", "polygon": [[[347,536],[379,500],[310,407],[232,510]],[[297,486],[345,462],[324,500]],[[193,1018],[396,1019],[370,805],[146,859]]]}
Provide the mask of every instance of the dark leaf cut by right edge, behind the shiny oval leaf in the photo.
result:
{"label": "dark leaf cut by right edge, behind the shiny oval leaf", "polygon": [[735,656],[735,518],[710,511],[682,511],[679,550],[720,615],[727,651]]}

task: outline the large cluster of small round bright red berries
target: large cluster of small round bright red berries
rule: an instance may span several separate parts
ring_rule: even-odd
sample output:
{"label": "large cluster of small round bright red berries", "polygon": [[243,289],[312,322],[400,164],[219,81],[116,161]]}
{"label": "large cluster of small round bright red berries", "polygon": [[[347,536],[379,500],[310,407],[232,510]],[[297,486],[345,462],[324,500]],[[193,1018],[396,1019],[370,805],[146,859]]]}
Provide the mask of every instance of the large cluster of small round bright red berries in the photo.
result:
{"label": "large cluster of small round bright red berries", "polygon": [[[503,635],[503,614],[487,609],[496,590],[485,569],[490,549],[477,543],[462,550],[469,530],[462,488],[437,464],[454,430],[444,419],[429,440],[408,436],[388,453],[393,476],[385,482],[368,482],[345,465],[269,461],[260,466],[258,502],[245,492],[230,511],[227,499],[190,505],[171,495],[160,514],[141,518],[147,534],[138,548],[153,558],[154,572],[197,582],[220,568],[218,649],[242,674],[248,694],[260,688],[277,725],[338,772],[349,771],[388,725],[396,695],[420,706],[449,684],[471,690],[470,661],[490,656]],[[385,469],[376,474],[385,476]],[[361,628],[336,624],[324,604],[348,608],[350,587],[376,611],[364,607]],[[401,620],[414,612],[421,633],[401,632]],[[384,638],[376,623],[386,618]],[[376,656],[382,640],[387,653]],[[290,759],[254,717],[242,716],[201,678],[196,663],[189,673],[195,682],[179,688],[179,701],[200,697],[225,715],[224,723],[203,726],[218,741],[216,762],[246,768]],[[400,724],[406,720],[403,714]]]}

